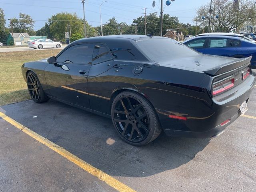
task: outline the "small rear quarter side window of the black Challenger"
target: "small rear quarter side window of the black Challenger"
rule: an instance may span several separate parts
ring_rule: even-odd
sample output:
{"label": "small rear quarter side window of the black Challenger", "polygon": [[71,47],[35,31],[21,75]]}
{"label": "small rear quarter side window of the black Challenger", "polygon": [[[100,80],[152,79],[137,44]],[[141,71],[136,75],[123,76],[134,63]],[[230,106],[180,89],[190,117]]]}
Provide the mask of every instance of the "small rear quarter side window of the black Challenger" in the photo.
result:
{"label": "small rear quarter side window of the black Challenger", "polygon": [[96,44],[92,56],[92,64],[112,60],[113,57],[104,45]]}

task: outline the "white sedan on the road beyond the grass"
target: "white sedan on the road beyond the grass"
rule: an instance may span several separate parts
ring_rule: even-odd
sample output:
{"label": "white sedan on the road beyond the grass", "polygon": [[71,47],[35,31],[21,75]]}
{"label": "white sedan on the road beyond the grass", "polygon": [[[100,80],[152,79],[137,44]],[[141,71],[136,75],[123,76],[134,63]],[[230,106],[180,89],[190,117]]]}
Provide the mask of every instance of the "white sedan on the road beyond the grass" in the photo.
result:
{"label": "white sedan on the road beyond the grass", "polygon": [[42,48],[61,48],[62,44],[60,42],[54,42],[50,39],[35,39],[28,42],[28,47],[33,49]]}

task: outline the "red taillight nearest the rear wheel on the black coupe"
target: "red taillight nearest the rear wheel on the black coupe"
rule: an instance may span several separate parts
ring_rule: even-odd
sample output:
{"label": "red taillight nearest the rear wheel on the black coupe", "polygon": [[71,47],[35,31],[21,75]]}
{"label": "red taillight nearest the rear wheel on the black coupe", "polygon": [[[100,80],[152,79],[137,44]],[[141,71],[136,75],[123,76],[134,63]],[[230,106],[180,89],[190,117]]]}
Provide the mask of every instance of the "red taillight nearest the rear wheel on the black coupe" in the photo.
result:
{"label": "red taillight nearest the rear wheel on the black coupe", "polygon": [[233,77],[224,78],[220,81],[214,82],[212,88],[212,96],[216,96],[226,90],[229,90],[235,85],[235,79]]}

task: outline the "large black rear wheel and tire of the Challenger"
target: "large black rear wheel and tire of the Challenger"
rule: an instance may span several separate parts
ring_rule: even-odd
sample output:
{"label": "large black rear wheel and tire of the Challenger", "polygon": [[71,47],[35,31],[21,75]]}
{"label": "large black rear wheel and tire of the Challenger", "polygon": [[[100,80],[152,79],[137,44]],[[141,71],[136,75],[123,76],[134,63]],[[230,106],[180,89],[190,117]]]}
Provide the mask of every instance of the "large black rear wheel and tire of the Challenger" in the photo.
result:
{"label": "large black rear wheel and tire of the Challenger", "polygon": [[134,146],[146,145],[162,132],[154,107],[137,92],[118,94],[112,103],[111,116],[121,138]]}

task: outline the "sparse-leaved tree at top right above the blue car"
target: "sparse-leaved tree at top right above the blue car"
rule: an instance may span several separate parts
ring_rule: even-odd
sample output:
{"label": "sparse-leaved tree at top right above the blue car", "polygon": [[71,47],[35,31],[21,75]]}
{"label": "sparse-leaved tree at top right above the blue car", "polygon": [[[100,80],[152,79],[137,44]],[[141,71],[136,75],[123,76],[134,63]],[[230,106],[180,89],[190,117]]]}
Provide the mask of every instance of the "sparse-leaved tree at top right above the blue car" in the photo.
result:
{"label": "sparse-leaved tree at top right above the blue car", "polygon": [[[248,20],[255,20],[256,14],[253,2],[250,0],[238,1],[239,6],[235,6],[233,0],[213,0],[214,8],[213,17],[218,15],[219,18],[211,19],[210,27],[214,26],[216,32],[231,32],[242,26]],[[200,26],[208,26],[209,20],[202,20],[202,16],[208,16],[210,4],[201,6],[197,10],[194,21],[198,21]],[[239,30],[237,30],[239,32]]]}

